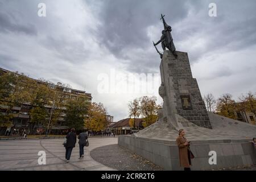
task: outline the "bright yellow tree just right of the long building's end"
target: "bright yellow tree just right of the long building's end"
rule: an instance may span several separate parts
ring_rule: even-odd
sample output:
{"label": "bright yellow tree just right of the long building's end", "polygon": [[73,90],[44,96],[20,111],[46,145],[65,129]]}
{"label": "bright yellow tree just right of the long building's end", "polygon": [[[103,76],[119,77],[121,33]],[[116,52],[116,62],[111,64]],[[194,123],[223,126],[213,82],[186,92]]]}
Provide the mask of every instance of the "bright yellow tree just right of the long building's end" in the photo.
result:
{"label": "bright yellow tree just right of the long building's end", "polygon": [[109,125],[106,119],[107,111],[103,104],[93,102],[89,105],[87,117],[84,119],[84,126],[88,130],[101,131]]}

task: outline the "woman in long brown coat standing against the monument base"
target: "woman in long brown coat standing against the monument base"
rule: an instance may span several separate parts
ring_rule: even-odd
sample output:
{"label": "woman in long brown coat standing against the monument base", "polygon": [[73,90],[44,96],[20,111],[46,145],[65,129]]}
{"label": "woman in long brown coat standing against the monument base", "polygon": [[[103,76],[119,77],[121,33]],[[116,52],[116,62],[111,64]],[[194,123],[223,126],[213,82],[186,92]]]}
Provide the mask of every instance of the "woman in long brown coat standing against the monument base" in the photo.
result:
{"label": "woman in long brown coat standing against the monument base", "polygon": [[176,142],[179,147],[179,159],[180,166],[184,167],[184,171],[191,171],[191,151],[189,150],[189,143],[187,139],[184,137],[185,130],[179,130],[179,137],[177,137]]}

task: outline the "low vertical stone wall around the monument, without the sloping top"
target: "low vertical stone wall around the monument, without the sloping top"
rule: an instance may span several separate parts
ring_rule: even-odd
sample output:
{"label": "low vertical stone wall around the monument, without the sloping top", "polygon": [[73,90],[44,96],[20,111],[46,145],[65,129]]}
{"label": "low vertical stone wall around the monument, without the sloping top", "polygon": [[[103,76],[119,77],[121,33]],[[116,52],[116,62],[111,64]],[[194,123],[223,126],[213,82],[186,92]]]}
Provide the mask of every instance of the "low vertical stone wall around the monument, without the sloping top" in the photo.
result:
{"label": "low vertical stone wall around the monument, without the sloping top", "polygon": [[[183,170],[179,163],[176,142],[122,135],[119,146],[150,160],[152,163],[172,171]],[[217,164],[210,165],[209,151],[217,152]],[[192,170],[211,170],[256,164],[254,146],[249,140],[196,140],[192,141]]]}

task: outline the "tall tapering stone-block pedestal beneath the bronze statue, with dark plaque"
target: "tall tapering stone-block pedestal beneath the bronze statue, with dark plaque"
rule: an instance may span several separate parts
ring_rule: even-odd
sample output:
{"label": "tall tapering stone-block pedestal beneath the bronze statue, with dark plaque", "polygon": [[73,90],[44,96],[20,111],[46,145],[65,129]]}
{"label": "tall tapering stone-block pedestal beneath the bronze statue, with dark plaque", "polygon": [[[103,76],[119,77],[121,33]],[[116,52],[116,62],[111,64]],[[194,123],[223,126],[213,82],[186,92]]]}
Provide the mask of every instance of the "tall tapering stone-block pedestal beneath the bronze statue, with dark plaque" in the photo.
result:
{"label": "tall tapering stone-block pedestal beneath the bronze statue, with dark plaque", "polygon": [[175,129],[189,123],[212,129],[196,78],[192,77],[188,53],[176,52],[177,59],[171,51],[164,51],[160,63],[163,118]]}

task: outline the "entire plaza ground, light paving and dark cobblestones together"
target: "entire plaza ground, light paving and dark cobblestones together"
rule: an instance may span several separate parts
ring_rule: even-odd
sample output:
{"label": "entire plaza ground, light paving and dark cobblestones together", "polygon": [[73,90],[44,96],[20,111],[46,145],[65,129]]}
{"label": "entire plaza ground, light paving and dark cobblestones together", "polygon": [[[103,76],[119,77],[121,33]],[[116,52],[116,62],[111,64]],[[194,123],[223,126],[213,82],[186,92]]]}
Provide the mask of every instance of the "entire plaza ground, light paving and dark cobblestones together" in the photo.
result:
{"label": "entire plaza ground, light paving and dark cobblestones together", "polygon": [[[85,158],[79,159],[79,145],[73,148],[71,160],[65,162],[63,139],[0,140],[0,170],[163,170],[117,145],[117,137],[91,137],[85,147]],[[46,152],[46,165],[38,164],[38,152]],[[253,170],[256,166],[219,170]]]}

